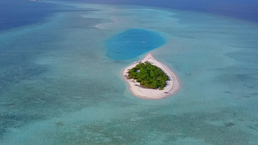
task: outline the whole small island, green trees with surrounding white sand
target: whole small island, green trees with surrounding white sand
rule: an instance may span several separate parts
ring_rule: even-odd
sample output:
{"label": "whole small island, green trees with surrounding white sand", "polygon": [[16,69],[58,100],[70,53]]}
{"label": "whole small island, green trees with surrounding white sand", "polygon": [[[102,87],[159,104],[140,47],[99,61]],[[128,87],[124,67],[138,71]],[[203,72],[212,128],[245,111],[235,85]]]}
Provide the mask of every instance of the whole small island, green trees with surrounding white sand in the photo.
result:
{"label": "whole small island, green trees with surrounding white sand", "polygon": [[148,54],[123,70],[130,91],[143,99],[162,99],[180,89],[180,81],[165,64]]}

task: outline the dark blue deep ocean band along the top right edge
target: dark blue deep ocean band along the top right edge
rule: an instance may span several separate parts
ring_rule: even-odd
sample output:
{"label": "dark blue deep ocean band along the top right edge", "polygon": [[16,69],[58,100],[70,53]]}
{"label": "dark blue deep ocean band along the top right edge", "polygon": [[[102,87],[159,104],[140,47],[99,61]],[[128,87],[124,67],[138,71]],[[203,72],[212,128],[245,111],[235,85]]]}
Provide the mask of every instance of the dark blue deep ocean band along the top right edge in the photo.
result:
{"label": "dark blue deep ocean band along the top right edge", "polygon": [[[63,0],[69,1],[69,0]],[[258,22],[257,0],[75,0],[108,4],[135,4],[226,15]]]}

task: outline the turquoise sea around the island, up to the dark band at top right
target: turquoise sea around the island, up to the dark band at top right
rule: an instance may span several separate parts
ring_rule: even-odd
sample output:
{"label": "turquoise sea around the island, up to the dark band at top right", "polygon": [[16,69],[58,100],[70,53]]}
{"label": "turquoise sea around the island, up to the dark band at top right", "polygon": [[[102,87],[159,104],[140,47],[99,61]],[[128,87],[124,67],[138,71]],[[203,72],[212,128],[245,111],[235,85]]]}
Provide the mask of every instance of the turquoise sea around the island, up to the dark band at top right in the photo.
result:
{"label": "turquoise sea around the island, up to the dark band at top right", "polygon": [[[258,145],[257,22],[19,2],[0,5],[0,145]],[[178,93],[128,90],[122,69],[148,52],[178,75]]]}

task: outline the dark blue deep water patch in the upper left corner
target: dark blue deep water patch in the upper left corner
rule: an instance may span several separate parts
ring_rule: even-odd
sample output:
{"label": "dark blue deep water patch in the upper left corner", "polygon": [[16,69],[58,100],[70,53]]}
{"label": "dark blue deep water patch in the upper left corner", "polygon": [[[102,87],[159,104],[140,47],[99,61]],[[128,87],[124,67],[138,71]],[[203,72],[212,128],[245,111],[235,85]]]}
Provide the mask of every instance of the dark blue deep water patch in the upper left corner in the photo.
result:
{"label": "dark blue deep water patch in the upper left corner", "polygon": [[72,6],[59,7],[55,3],[0,0],[0,32],[37,23],[46,22],[47,16],[58,12],[86,12],[88,10],[75,9]]}

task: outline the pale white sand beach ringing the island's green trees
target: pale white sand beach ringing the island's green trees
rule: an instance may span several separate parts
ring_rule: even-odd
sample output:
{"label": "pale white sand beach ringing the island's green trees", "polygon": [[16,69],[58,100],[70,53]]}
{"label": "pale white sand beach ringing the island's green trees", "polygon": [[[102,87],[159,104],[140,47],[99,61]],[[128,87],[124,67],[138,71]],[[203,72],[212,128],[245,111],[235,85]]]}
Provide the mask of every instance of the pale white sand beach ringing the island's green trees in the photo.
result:
{"label": "pale white sand beach ringing the island's green trees", "polygon": [[[152,63],[152,65],[155,65],[161,68],[161,70],[164,73],[166,73],[167,76],[169,77],[170,80],[166,81],[167,86],[164,87],[163,90],[139,87],[139,83],[137,83],[136,80],[126,79],[126,76],[128,75],[127,73],[128,70],[134,68],[139,62],[145,62],[145,61],[149,61],[150,63]],[[173,94],[179,91],[180,80],[178,79],[176,74],[173,73],[165,64],[153,58],[151,53],[149,53],[145,58],[143,58],[139,62],[135,62],[134,64],[126,67],[122,72],[125,81],[129,84],[130,91],[135,96],[143,99],[155,100],[155,99],[162,99],[162,98],[172,96]]]}

